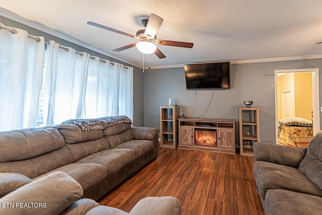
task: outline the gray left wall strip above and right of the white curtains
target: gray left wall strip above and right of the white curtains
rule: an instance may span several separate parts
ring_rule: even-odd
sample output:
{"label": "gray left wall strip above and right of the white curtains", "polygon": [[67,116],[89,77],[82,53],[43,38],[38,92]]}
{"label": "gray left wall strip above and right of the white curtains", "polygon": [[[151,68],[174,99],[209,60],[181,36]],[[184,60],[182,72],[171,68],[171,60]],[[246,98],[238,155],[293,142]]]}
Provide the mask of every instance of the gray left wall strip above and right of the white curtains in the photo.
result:
{"label": "gray left wall strip above and right of the white curtains", "polygon": [[10,20],[8,18],[0,16],[0,22],[3,23],[6,26],[9,27],[15,27],[15,28],[20,28],[23,30],[28,31],[29,34],[34,35],[34,36],[43,36],[45,38],[45,41],[49,40],[54,40],[55,42],[59,43],[60,45],[67,46],[67,47],[72,47],[76,51],[79,52],[87,52],[90,53],[93,56],[98,56],[103,59],[110,60],[111,62],[118,62],[121,63],[125,66],[131,66],[133,67],[133,91],[134,91],[134,96],[133,96],[133,125],[134,126],[143,126],[144,125],[144,88],[143,88],[143,73],[142,69],[135,67],[133,65],[130,65],[128,63],[119,61],[117,59],[108,57],[106,55],[100,54],[98,52],[92,51],[90,49],[87,49],[85,47],[76,45],[74,43],[68,42],[66,40],[60,39],[58,37],[55,37],[53,35],[47,34],[45,32],[39,31],[37,29],[31,28],[29,26],[23,25],[19,22],[15,22],[13,20]]}

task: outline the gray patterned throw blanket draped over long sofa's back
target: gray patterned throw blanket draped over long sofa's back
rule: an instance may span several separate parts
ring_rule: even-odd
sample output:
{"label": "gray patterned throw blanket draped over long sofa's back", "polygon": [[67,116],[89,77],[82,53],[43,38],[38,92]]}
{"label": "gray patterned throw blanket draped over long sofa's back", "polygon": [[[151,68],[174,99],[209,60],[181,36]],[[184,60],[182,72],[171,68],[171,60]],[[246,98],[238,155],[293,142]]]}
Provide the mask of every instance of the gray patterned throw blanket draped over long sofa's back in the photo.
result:
{"label": "gray patterned throw blanket draped over long sofa's back", "polygon": [[74,119],[67,120],[62,124],[76,124],[83,131],[97,130],[97,129],[106,129],[109,126],[113,126],[121,123],[132,124],[132,121],[127,116],[113,116],[113,117],[102,117],[97,119]]}

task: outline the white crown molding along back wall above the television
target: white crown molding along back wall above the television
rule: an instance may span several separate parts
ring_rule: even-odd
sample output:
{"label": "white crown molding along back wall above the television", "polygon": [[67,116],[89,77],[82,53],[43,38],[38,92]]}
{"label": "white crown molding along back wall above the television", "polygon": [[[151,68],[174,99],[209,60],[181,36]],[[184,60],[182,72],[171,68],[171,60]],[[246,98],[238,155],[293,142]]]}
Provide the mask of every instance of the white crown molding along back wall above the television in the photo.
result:
{"label": "white crown molding along back wall above the television", "polygon": [[[307,60],[307,59],[318,59],[318,58],[322,58],[322,54],[293,56],[293,57],[262,58],[262,59],[251,59],[251,60],[232,60],[232,61],[230,61],[230,64],[264,63],[264,62],[276,62],[276,61],[287,61],[287,60]],[[225,61],[214,61],[214,62],[209,62],[209,63],[215,63],[215,62],[219,63],[219,62],[225,62]],[[184,67],[184,65],[185,64],[150,66],[150,69],[179,68],[179,67]],[[148,69],[148,67],[144,67],[144,69]]]}

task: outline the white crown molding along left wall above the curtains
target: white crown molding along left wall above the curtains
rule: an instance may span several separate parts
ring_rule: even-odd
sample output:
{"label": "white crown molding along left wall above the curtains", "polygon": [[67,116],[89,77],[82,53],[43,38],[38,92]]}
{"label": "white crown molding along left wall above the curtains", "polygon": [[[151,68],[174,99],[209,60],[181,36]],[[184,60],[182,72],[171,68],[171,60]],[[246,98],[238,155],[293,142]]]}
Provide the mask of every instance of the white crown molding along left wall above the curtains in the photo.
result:
{"label": "white crown molding along left wall above the curtains", "polygon": [[98,52],[98,53],[101,53],[101,54],[104,54],[108,57],[112,57],[112,58],[115,58],[116,60],[120,60],[122,62],[125,62],[125,63],[128,63],[128,64],[131,64],[133,66],[136,66],[136,67],[139,67],[139,68],[142,68],[142,65],[137,65],[133,62],[130,62],[128,61],[127,59],[125,58],[122,58],[122,57],[119,57],[119,56],[116,56],[114,54],[112,54],[111,52],[109,52],[108,50],[106,49],[101,49],[101,48],[97,48],[93,45],[90,45],[82,40],[79,40],[78,38],[75,38],[75,37],[72,37],[71,35],[67,35],[63,32],[60,32],[58,30],[54,30],[54,29],[51,29],[43,24],[40,24],[38,22],[35,22],[35,21],[32,21],[32,20],[28,20],[24,17],[21,17],[19,16],[18,14],[15,14],[11,11],[8,11],[6,9],[3,9],[0,7],[0,15],[3,16],[3,17],[6,17],[8,19],[11,19],[13,21],[16,21],[16,22],[19,22],[21,24],[24,24],[26,26],[29,26],[29,27],[32,27],[32,28],[35,28],[39,31],[42,31],[42,32],[45,32],[47,34],[51,34],[55,37],[59,37],[63,40],[66,40],[68,42],[71,42],[71,43],[74,43],[76,45],[79,45],[79,46],[82,46],[82,47],[85,47],[85,48],[88,48],[92,51],[95,51],[95,52]]}

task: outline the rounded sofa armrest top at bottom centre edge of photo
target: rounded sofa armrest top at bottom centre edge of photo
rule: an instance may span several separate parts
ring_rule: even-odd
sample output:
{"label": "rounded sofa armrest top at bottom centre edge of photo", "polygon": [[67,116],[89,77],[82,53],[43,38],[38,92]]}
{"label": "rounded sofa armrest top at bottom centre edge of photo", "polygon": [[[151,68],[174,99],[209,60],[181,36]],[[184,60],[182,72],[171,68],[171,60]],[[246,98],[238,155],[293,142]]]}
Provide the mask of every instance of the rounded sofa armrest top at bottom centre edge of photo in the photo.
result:
{"label": "rounded sofa armrest top at bottom centre edge of photo", "polygon": [[155,214],[155,215],[180,215],[181,205],[173,196],[145,197],[139,200],[129,215]]}

